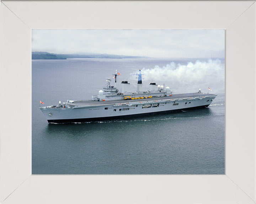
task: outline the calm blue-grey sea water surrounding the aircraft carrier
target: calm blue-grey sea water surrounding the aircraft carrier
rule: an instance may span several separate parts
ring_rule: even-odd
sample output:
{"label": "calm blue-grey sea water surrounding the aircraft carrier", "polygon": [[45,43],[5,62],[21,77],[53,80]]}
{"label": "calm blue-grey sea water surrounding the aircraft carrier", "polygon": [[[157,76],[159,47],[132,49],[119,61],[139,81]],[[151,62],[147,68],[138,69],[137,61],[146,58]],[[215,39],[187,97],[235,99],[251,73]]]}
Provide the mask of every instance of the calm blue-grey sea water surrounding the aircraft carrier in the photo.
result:
{"label": "calm blue-grey sea water surrounding the aircraft carrier", "polygon": [[[32,174],[225,174],[224,92],[213,92],[218,96],[209,108],[130,120],[48,124],[38,108],[39,100],[48,106],[90,99],[116,69],[121,73],[119,82],[129,80],[136,87],[131,73],[173,61],[187,63],[187,59],[32,60]],[[159,83],[156,80],[151,82]],[[165,83],[172,90],[171,82]]]}

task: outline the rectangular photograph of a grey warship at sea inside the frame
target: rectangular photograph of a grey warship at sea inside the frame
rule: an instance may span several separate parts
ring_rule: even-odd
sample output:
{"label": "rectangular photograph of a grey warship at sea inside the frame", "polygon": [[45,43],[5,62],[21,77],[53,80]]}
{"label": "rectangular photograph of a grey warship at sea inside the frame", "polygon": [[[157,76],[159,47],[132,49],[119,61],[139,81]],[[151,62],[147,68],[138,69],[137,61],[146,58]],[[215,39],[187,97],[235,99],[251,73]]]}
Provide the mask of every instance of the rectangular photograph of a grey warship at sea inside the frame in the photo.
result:
{"label": "rectangular photograph of a grey warship at sea inside the frame", "polygon": [[32,29],[32,174],[225,174],[225,30]]}

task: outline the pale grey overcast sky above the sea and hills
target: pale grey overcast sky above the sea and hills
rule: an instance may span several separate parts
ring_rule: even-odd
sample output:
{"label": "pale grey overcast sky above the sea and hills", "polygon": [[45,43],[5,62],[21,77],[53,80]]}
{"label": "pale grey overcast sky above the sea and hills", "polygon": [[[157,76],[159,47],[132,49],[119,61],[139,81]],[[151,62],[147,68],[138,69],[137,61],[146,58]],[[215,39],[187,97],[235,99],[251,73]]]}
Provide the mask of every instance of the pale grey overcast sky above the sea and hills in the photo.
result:
{"label": "pale grey overcast sky above the sea and hills", "polygon": [[224,58],[223,29],[32,30],[32,51]]}

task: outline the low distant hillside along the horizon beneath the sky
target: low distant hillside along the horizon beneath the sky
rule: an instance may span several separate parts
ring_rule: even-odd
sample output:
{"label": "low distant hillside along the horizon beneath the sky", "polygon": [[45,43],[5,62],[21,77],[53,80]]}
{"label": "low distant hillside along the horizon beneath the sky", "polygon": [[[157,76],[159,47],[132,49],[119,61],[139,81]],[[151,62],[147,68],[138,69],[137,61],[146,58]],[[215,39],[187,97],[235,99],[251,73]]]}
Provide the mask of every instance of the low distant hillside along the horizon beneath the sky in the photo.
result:
{"label": "low distant hillside along the horizon beneath the sky", "polygon": [[32,52],[32,60],[66,60],[67,58],[143,58],[140,56],[108,55],[108,54],[54,54],[49,52]]}

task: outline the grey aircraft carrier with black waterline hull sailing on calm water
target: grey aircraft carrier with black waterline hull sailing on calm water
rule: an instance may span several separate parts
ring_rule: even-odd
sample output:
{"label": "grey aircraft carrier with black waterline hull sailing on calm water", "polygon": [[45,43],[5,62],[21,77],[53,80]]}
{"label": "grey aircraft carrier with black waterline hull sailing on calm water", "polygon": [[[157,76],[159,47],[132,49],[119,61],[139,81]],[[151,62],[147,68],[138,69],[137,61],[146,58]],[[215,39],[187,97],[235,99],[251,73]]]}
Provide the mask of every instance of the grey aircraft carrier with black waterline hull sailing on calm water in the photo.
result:
{"label": "grey aircraft carrier with black waterline hull sailing on calm water", "polygon": [[[139,70],[137,90],[130,91],[130,83],[122,81],[117,89],[117,71],[106,86],[92,100],[71,101],[54,106],[39,107],[48,123],[82,123],[88,121],[105,121],[127,119],[139,116],[165,114],[177,111],[205,108],[217,95],[202,93],[172,94],[169,87],[150,83],[148,91],[142,91],[142,73]],[[40,103],[42,103],[40,101]]]}

